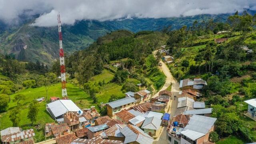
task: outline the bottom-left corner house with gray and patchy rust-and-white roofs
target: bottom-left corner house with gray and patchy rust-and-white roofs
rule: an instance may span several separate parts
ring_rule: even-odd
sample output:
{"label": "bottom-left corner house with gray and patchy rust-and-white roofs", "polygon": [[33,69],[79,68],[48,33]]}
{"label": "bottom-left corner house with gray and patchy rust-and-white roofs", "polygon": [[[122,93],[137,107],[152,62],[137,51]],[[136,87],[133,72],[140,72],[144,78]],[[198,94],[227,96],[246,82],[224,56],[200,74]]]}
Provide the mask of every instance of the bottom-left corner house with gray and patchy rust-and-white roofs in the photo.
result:
{"label": "bottom-left corner house with gray and patchy rust-and-white roofs", "polygon": [[2,144],[34,144],[33,136],[35,136],[32,128],[22,130],[19,127],[10,127],[0,131]]}

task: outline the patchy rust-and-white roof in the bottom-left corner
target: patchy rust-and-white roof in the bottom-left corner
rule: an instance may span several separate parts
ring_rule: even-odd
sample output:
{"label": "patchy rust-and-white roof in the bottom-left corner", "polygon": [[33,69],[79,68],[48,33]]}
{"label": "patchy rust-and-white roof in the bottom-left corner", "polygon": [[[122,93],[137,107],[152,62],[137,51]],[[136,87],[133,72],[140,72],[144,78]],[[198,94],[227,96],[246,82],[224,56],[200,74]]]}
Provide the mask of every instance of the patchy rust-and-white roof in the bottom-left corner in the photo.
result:
{"label": "patchy rust-and-white roof in the bottom-left corner", "polygon": [[31,138],[35,136],[34,130],[32,128],[28,129],[28,130],[23,130],[20,132],[16,132],[13,134],[7,134],[4,136],[1,136],[2,142],[15,142],[17,140],[22,140],[25,138]]}

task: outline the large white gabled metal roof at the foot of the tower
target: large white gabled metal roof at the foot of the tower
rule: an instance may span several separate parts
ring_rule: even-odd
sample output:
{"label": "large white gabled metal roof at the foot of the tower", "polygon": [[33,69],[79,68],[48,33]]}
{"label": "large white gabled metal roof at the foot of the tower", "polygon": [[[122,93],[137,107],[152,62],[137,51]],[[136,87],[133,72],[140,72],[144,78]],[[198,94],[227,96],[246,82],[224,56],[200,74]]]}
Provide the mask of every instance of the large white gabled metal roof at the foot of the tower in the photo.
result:
{"label": "large white gabled metal roof at the foot of the tower", "polygon": [[56,100],[47,104],[47,106],[55,117],[61,116],[66,112],[83,112],[72,100]]}

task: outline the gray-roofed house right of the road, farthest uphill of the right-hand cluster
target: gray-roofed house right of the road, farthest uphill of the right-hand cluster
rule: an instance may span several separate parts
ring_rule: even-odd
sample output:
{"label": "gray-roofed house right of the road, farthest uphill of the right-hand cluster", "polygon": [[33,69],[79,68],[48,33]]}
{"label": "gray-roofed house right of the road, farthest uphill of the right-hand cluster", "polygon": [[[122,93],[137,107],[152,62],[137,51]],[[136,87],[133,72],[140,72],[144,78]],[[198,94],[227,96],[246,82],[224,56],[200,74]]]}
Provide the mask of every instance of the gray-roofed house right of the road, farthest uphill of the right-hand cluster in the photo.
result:
{"label": "gray-roofed house right of the road, farthest uphill of the right-hand cluster", "polygon": [[194,78],[194,80],[191,80],[189,78],[180,80],[181,90],[193,89],[193,90],[196,90],[197,92],[200,92],[203,86],[206,86],[206,85],[207,85],[207,82],[205,80],[202,80],[201,78]]}

